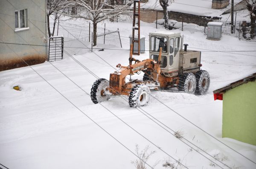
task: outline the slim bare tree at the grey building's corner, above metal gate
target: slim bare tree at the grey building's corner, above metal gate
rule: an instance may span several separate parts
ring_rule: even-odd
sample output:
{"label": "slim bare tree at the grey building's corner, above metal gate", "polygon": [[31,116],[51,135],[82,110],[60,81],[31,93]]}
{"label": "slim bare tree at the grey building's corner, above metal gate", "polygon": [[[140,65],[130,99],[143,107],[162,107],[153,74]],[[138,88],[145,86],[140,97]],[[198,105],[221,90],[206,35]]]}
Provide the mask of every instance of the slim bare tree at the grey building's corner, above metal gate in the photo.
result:
{"label": "slim bare tree at the grey building's corner, above metal gate", "polygon": [[54,36],[56,22],[61,17],[61,14],[58,12],[63,12],[64,9],[67,7],[67,3],[65,3],[63,0],[46,0],[46,3],[47,3],[48,35],[49,37],[51,37],[50,20],[49,20],[50,15],[55,14],[53,28],[52,28],[52,36]]}

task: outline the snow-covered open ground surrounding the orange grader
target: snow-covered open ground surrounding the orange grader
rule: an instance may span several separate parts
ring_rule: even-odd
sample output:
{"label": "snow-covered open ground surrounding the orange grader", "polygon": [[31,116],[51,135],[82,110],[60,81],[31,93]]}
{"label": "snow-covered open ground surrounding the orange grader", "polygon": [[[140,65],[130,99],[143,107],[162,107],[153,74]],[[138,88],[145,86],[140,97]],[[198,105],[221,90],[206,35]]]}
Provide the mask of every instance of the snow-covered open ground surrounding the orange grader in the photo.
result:
{"label": "snow-covered open ground surrounding the orange grader", "polygon": [[[150,151],[156,151],[147,162],[153,166],[158,161],[155,169],[164,169],[166,161],[185,168],[174,159],[189,169],[256,168],[256,163],[251,162],[256,162],[256,146],[221,138],[222,101],[214,101],[212,94],[218,87],[256,72],[255,42],[226,35],[220,41],[211,41],[199,32],[175,30],[184,34],[188,49],[202,51],[202,69],[209,71],[211,77],[209,92],[195,96],[152,91],[150,103],[134,109],[129,107],[127,96],[115,97],[101,105],[93,104],[87,95],[96,80],[91,73],[109,79],[109,74],[115,71],[111,66],[128,65],[132,24],[107,22],[107,25],[113,30],[119,28],[123,48],[73,56],[84,67],[65,53],[63,60],[52,62],[58,70],[49,62],[33,65],[40,76],[29,67],[0,72],[0,163],[9,169],[134,169],[131,161],[137,157],[128,149],[135,153],[138,144],[140,150],[149,145]],[[145,50],[149,32],[163,30],[155,29],[154,23],[141,24],[141,34],[146,37]],[[146,59],[148,51],[134,57]],[[143,73],[132,78],[142,77]],[[22,90],[13,90],[16,85]],[[143,113],[153,116],[157,123]],[[181,131],[184,138],[174,137],[173,131]]]}

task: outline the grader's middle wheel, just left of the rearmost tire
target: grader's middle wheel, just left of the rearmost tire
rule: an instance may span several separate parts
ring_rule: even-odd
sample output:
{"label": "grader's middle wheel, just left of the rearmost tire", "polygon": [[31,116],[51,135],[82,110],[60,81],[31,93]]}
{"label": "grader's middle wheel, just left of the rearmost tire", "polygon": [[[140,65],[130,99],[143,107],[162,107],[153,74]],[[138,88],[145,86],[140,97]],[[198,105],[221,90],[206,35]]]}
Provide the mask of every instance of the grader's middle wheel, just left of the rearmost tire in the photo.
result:
{"label": "grader's middle wheel, just left of the rearmost tire", "polygon": [[194,94],[196,87],[196,79],[193,73],[183,73],[180,75],[178,89],[180,91]]}

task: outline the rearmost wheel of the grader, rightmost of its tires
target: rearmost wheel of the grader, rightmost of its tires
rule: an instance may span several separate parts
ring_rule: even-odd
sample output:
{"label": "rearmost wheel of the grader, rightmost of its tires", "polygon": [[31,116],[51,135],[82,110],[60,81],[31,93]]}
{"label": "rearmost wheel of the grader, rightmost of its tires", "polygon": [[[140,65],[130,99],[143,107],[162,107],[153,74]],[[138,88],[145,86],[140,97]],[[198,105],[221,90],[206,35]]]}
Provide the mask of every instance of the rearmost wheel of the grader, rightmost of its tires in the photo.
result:
{"label": "rearmost wheel of the grader, rightmost of its tires", "polygon": [[195,73],[196,78],[196,95],[204,95],[208,92],[210,86],[210,75],[206,70],[198,70]]}

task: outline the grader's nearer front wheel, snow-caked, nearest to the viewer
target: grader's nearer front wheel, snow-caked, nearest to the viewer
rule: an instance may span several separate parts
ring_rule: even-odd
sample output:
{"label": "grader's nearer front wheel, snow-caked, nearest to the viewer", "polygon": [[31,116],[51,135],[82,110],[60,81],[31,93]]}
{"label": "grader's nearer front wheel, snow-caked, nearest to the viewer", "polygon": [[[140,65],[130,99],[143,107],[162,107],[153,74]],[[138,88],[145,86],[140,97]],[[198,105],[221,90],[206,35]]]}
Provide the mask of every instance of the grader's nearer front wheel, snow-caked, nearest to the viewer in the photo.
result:
{"label": "grader's nearer front wheel, snow-caked, nearest to the viewer", "polygon": [[130,107],[140,107],[148,104],[150,99],[150,90],[147,85],[138,84],[131,89],[129,95]]}

